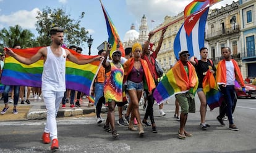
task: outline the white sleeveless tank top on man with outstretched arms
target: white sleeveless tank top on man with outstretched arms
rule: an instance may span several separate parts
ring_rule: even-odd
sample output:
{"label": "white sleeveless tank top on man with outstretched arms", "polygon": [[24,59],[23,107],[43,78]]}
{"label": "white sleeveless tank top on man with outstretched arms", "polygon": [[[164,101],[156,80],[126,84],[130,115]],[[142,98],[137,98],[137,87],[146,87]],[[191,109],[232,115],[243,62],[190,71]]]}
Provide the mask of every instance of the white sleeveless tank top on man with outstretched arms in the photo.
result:
{"label": "white sleeveless tank top on man with outstretched arms", "polygon": [[62,49],[62,55],[56,57],[47,47],[47,58],[43,66],[41,90],[53,90],[55,92],[66,91],[66,51]]}

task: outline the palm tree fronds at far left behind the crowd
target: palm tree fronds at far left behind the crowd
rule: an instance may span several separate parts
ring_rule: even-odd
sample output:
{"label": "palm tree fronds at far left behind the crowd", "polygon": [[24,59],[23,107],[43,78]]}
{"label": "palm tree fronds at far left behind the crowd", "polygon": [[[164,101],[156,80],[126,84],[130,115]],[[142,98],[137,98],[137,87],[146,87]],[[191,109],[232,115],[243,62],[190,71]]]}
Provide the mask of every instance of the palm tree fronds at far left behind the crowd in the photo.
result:
{"label": "palm tree fronds at far left behind the crowd", "polygon": [[22,48],[33,47],[34,34],[28,29],[22,29],[21,26],[10,26],[9,30],[3,28],[0,33],[0,41],[4,46],[12,47],[19,44]]}

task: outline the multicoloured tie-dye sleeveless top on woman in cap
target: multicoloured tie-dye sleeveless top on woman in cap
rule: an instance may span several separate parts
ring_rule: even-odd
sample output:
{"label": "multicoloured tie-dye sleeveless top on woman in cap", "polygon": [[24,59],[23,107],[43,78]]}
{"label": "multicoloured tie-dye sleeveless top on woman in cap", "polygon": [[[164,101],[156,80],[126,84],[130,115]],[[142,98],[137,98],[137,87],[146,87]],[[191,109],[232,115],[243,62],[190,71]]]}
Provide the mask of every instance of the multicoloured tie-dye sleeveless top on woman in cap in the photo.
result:
{"label": "multicoloured tie-dye sleeveless top on woman in cap", "polygon": [[124,79],[124,68],[117,68],[114,63],[110,62],[111,73],[106,78],[104,84],[104,96],[106,101],[122,102],[122,80]]}

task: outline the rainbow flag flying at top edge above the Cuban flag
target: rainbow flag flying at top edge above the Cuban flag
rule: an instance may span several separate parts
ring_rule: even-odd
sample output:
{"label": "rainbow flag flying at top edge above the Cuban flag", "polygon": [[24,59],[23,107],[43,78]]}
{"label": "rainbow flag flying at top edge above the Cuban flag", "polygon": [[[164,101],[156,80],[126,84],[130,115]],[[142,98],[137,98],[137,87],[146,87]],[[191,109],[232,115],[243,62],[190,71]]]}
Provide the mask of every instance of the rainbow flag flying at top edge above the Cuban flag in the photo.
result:
{"label": "rainbow flag flying at top edge above the Cuban flag", "polygon": [[207,6],[212,6],[216,2],[220,2],[223,0],[194,0],[190,2],[184,9],[184,18],[189,17],[192,14],[199,12]]}

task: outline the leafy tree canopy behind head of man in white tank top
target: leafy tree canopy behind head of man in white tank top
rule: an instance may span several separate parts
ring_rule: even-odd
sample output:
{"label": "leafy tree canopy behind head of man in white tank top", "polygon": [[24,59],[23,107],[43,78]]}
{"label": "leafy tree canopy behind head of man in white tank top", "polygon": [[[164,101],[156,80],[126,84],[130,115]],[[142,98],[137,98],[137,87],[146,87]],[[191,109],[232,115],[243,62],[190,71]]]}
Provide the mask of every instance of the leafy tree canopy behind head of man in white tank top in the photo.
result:
{"label": "leafy tree canopy behind head of man in white tank top", "polygon": [[82,45],[87,41],[88,31],[80,26],[80,19],[85,15],[82,12],[77,20],[71,19],[70,15],[66,15],[62,9],[51,9],[46,7],[42,12],[38,12],[36,16],[36,31],[38,31],[37,41],[41,46],[50,45],[49,30],[54,26],[59,26],[64,30],[65,44]]}

